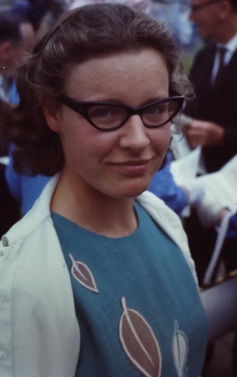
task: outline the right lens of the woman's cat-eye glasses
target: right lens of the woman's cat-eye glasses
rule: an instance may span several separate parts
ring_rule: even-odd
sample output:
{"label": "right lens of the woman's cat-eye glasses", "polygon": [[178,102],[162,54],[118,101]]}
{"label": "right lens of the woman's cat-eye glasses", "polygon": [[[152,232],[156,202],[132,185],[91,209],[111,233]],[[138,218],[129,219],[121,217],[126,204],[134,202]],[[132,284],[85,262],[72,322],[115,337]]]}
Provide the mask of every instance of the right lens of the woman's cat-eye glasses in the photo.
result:
{"label": "right lens of the woman's cat-eye glasses", "polygon": [[148,106],[142,113],[142,120],[147,126],[159,126],[168,122],[178,108],[176,101],[167,101]]}

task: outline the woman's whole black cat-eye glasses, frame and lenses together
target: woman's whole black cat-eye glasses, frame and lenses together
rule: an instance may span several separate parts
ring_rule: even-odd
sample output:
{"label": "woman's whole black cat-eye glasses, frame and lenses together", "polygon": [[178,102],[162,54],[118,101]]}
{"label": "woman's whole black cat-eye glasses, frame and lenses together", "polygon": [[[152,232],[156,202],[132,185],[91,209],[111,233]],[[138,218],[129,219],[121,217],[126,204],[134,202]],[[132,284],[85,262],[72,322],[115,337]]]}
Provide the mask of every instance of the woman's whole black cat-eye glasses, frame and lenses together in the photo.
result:
{"label": "woman's whole black cat-eye glasses, frame and lenses together", "polygon": [[151,102],[140,107],[130,107],[112,102],[81,102],[61,96],[61,102],[81,114],[91,126],[102,131],[122,127],[132,115],[139,115],[147,128],[157,128],[170,122],[181,110],[184,96],[176,92],[172,97]]}

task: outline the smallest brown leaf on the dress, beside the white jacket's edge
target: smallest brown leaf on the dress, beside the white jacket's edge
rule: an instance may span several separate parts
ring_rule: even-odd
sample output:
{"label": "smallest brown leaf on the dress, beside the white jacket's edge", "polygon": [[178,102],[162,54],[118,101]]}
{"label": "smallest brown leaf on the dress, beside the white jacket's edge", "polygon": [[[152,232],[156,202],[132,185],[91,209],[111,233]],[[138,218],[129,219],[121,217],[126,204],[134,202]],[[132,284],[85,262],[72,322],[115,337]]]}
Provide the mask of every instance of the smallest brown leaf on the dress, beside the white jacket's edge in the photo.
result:
{"label": "smallest brown leaf on the dress, beside the white jacket's edge", "polygon": [[83,287],[90,289],[93,292],[99,293],[94,276],[87,265],[85,263],[79,262],[78,260],[75,260],[71,253],[69,254],[69,258],[72,261],[71,274],[76,279],[76,281],[83,285]]}

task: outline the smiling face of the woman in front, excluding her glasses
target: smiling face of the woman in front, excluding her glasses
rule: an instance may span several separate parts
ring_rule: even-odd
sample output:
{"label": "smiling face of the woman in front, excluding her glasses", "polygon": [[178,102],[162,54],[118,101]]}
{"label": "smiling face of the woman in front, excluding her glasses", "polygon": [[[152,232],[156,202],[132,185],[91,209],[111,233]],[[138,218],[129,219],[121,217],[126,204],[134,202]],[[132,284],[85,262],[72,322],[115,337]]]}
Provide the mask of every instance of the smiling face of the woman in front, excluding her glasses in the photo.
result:
{"label": "smiling face of the woman in front, excluding her glasses", "polygon": [[[168,71],[162,55],[151,48],[97,57],[71,69],[65,94],[78,101],[138,107],[168,97]],[[70,182],[114,198],[135,197],[148,187],[171,137],[170,124],[148,129],[139,115],[103,132],[65,105],[49,125],[60,134]]]}

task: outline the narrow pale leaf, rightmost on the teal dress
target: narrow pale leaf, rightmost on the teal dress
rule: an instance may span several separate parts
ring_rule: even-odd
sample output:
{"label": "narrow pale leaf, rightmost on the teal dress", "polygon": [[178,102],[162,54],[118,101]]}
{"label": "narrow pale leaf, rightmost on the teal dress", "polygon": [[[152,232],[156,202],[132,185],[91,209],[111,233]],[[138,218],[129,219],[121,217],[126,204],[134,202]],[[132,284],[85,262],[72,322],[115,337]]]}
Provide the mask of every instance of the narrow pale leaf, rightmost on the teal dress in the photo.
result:
{"label": "narrow pale leaf, rightmost on the teal dress", "polygon": [[174,321],[174,335],[172,339],[172,354],[178,377],[185,377],[186,363],[189,351],[189,341],[183,331],[179,330],[178,321]]}

